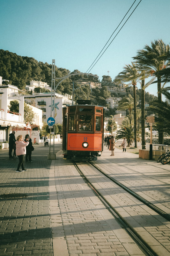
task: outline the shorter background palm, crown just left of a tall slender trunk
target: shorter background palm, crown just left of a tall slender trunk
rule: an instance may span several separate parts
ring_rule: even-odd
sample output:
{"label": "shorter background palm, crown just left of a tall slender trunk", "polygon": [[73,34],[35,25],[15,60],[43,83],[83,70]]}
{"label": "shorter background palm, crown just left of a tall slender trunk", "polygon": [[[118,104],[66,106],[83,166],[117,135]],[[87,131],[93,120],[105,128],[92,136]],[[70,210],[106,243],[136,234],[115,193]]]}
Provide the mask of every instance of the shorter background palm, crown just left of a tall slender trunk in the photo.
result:
{"label": "shorter background palm, crown just left of a tall slender trunk", "polygon": [[128,94],[128,97],[123,97],[122,100],[119,101],[119,105],[117,110],[124,110],[128,109],[129,110],[129,121],[130,124],[132,122],[132,110],[133,110],[134,102],[133,102],[133,97],[131,94]]}

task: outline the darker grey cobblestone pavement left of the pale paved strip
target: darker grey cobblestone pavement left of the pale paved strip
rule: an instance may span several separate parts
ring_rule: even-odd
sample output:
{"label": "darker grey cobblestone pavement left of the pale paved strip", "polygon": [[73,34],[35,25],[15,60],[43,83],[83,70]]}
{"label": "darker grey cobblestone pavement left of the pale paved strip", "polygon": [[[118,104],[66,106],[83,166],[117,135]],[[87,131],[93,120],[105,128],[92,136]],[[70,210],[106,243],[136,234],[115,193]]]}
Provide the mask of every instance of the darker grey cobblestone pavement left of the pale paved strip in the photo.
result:
{"label": "darker grey cobblestone pavement left of the pale paved strip", "polygon": [[[20,199],[0,197],[0,255],[53,256],[49,210],[49,148],[35,145],[26,172],[16,172],[18,158],[0,151],[0,195],[26,194]],[[61,147],[60,147],[61,148]],[[22,195],[21,195],[22,196]]]}

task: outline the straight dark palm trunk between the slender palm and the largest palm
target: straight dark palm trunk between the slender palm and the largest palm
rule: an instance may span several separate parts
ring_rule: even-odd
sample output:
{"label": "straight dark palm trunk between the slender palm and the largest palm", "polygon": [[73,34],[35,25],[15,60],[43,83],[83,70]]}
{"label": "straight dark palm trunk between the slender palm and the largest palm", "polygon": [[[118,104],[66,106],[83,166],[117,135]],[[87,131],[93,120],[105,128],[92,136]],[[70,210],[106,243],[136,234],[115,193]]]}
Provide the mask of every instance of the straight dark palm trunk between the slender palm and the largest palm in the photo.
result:
{"label": "straight dark palm trunk between the slender palm and the largest palm", "polygon": [[146,149],[145,145],[145,118],[144,118],[144,79],[142,79],[141,85],[141,139],[142,139],[142,149]]}

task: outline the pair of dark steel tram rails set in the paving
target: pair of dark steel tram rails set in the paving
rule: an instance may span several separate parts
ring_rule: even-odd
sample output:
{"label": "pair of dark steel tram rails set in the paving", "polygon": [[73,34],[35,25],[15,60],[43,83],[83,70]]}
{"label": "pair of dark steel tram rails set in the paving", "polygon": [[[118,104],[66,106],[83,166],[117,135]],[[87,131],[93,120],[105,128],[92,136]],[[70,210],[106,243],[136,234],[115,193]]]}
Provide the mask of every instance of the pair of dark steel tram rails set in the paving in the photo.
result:
{"label": "pair of dark steel tram rails set in the paving", "polygon": [[[136,229],[133,228],[131,223],[129,224],[128,220],[126,220],[126,218],[124,218],[122,216],[122,214],[120,214],[119,211],[117,211],[115,209],[115,207],[112,205],[112,203],[110,203],[109,200],[107,200],[106,197],[103,196],[102,193],[100,193],[99,190],[95,188],[95,186],[92,184],[90,179],[87,178],[84,175],[84,173],[81,171],[81,169],[78,166],[78,163],[73,162],[73,164],[76,167],[76,169],[78,170],[78,172],[80,173],[80,175],[82,176],[82,178],[88,184],[88,186],[93,190],[95,195],[99,197],[100,201],[112,213],[114,218],[119,222],[119,224],[122,226],[122,228],[124,228],[127,231],[127,233],[131,236],[131,238],[139,246],[139,248],[141,248],[141,250],[145,253],[145,255],[147,255],[147,256],[153,256],[153,255],[154,256],[160,256],[160,255],[162,255],[162,254],[157,253],[157,250],[154,250],[154,246],[150,246],[148,244],[147,240],[145,238],[143,239],[143,237],[140,236],[140,234],[136,231]],[[100,168],[98,168],[92,162],[89,162],[88,164],[92,165],[98,172],[102,173],[109,180],[113,181],[116,185],[118,185],[119,187],[124,189],[130,195],[134,196],[137,200],[142,202],[144,205],[148,206],[150,209],[152,209],[153,211],[158,213],[160,216],[162,216],[163,218],[165,218],[168,221],[170,220],[170,216],[166,212],[162,211],[161,209],[159,209],[158,207],[156,207],[155,205],[153,205],[149,201],[145,200],[143,197],[137,195],[137,193],[133,192],[131,189],[129,189],[128,187],[124,186],[119,181],[115,180],[113,177],[111,177],[110,175],[108,175],[107,173],[102,171]],[[164,247],[162,247],[162,248],[164,248]],[[167,252],[167,255],[170,255],[170,253],[168,251],[166,251],[166,252]]]}

